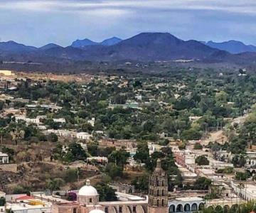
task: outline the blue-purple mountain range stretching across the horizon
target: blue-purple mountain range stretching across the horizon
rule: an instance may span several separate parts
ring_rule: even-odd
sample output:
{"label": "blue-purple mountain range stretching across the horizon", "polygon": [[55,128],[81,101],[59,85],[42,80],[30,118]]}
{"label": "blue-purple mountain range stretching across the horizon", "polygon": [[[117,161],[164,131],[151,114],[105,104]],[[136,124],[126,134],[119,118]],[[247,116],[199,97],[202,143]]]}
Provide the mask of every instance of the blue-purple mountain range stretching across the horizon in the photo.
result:
{"label": "blue-purple mountain range stretching across the horizon", "polygon": [[[240,51],[249,51],[241,53]],[[197,40],[181,40],[170,33],[140,33],[121,40],[109,38],[100,43],[89,39],[75,40],[70,46],[54,43],[41,48],[26,46],[14,41],[0,43],[0,60],[9,61],[157,61],[193,60],[195,62],[256,61],[255,47],[232,41],[227,43],[202,43]],[[239,54],[233,54],[239,53]]]}

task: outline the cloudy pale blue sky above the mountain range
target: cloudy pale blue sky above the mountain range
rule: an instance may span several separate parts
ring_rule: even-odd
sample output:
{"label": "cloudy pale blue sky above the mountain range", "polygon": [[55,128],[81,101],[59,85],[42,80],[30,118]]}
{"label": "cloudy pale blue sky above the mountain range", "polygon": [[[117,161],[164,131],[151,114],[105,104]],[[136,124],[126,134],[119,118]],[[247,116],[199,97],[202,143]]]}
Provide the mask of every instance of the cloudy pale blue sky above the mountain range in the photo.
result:
{"label": "cloudy pale blue sky above the mountain range", "polygon": [[142,32],[256,45],[255,23],[255,0],[0,0],[0,40],[37,47]]}

